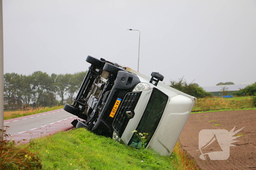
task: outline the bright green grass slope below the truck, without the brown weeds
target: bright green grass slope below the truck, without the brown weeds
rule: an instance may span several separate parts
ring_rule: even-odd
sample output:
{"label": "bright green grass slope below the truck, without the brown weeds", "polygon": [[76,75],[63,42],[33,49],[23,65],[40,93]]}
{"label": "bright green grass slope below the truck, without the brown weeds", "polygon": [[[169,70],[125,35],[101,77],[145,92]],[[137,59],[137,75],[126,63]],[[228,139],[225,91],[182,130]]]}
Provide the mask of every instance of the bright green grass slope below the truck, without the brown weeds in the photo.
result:
{"label": "bright green grass slope below the truck, without the brown weeds", "polygon": [[176,170],[176,154],[160,156],[135,149],[81,128],[33,139],[26,146],[42,160],[44,170]]}

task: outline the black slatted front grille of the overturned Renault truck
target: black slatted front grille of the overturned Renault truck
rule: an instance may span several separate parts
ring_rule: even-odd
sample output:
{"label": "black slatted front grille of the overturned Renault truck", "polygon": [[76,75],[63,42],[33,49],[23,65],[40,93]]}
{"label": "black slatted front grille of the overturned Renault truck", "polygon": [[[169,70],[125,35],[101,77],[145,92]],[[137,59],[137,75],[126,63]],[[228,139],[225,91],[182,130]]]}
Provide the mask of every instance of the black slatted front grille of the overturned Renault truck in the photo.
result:
{"label": "black slatted front grille of the overturned Renault truck", "polygon": [[132,116],[132,117],[128,118],[128,116],[126,116],[125,112],[134,110],[134,108],[138,102],[139,96],[140,96],[140,92],[127,93],[125,95],[120,107],[118,108],[116,117],[114,118],[114,121],[113,121],[113,128],[117,132],[119,137],[121,137],[121,135],[123,134],[125,127],[127,126],[128,122],[129,122],[129,119],[131,119],[133,117]]}

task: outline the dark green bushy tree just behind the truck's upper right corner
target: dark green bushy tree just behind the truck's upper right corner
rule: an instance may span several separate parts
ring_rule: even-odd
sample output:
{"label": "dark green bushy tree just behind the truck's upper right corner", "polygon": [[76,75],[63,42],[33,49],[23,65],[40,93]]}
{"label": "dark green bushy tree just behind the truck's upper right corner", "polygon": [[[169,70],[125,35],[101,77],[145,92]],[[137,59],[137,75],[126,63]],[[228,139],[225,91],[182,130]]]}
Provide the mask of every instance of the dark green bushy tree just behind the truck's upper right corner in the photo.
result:
{"label": "dark green bushy tree just behind the truck's upper right corner", "polygon": [[184,92],[188,95],[194,96],[196,98],[204,98],[206,96],[212,96],[210,92],[204,91],[202,87],[200,87],[197,83],[187,83],[184,80],[184,77],[178,79],[178,81],[170,80],[170,87],[173,87],[181,92]]}

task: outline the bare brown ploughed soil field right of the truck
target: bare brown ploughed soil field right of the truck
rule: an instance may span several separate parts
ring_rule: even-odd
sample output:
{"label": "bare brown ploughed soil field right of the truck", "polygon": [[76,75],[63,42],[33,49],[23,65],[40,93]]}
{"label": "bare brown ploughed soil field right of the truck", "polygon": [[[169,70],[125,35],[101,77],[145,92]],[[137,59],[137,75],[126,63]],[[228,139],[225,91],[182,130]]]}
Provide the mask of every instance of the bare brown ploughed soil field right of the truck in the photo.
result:
{"label": "bare brown ploughed soil field right of the truck", "polygon": [[[213,121],[214,120],[214,121]],[[256,110],[222,111],[191,114],[180,135],[180,143],[203,170],[256,170]],[[219,124],[219,125],[216,125]],[[214,126],[215,125],[215,126]],[[199,132],[204,129],[225,129],[231,131],[234,127],[241,131],[233,136],[233,145],[226,160],[206,160],[199,158]],[[216,131],[215,131],[216,132]],[[202,141],[202,140],[200,140]],[[203,153],[223,151],[220,142],[212,142]],[[224,154],[224,152],[222,152]],[[226,152],[227,153],[227,152]],[[223,156],[219,155],[220,157]],[[202,157],[202,156],[201,156]]]}

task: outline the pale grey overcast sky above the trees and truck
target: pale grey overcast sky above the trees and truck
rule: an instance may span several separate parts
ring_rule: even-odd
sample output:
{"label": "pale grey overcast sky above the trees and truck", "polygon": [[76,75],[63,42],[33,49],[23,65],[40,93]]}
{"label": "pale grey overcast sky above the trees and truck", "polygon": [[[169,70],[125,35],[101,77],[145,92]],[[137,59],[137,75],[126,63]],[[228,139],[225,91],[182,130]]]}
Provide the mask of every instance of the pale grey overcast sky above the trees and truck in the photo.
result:
{"label": "pale grey overcast sky above the trees and truck", "polygon": [[256,0],[3,0],[4,72],[85,71],[87,55],[200,86],[256,82]]}

